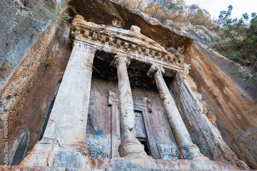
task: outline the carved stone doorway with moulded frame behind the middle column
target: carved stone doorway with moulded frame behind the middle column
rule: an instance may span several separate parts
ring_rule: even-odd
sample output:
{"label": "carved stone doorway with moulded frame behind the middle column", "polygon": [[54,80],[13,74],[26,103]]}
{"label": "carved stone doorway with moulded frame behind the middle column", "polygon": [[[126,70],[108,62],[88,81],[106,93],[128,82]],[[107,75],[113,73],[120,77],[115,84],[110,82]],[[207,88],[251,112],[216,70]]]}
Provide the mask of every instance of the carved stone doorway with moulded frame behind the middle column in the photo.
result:
{"label": "carved stone doorway with moulded frame behind the middle column", "polygon": [[[120,144],[120,125],[119,125],[119,96],[117,92],[108,91],[108,106],[111,107],[112,115],[112,142],[111,156],[119,157],[118,147]],[[145,146],[145,151],[154,159],[161,159],[157,142],[152,128],[151,102],[148,98],[133,96],[134,110],[136,115],[136,126],[134,128],[135,137]]]}

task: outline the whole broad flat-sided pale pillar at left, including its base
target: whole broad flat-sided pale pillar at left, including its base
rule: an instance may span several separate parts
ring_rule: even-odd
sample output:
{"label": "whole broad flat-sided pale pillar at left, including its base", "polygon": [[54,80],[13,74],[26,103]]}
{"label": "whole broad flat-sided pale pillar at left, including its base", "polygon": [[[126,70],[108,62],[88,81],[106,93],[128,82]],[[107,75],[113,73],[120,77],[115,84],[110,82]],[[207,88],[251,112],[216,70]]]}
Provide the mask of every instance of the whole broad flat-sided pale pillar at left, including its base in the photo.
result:
{"label": "whole broad flat-sided pale pillar at left, including its base", "polygon": [[43,139],[23,165],[89,167],[85,138],[95,52],[90,45],[74,41]]}

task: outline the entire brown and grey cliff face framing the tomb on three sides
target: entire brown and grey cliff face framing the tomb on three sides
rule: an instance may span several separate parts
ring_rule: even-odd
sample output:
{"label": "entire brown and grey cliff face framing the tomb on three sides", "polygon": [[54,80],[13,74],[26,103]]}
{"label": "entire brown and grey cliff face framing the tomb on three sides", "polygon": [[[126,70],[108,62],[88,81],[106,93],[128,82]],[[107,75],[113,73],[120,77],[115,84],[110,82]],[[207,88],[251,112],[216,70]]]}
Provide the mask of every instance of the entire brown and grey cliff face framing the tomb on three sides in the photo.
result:
{"label": "entire brown and grey cliff face framing the tomb on three sides", "polygon": [[[130,11],[109,1],[73,0],[66,3],[71,7],[69,8],[71,16],[80,14],[86,21],[105,25],[111,25],[112,21],[117,19],[124,29],[137,25],[141,28],[142,34],[165,48],[173,46],[170,42],[172,35],[179,35],[181,39],[179,38],[175,48],[185,47],[185,62],[191,64],[189,75],[196,85],[190,79],[189,82],[192,90],[196,94],[198,92],[201,94],[197,96],[204,106],[203,112],[217,128],[215,131],[221,132],[222,139],[235,155],[251,168],[257,168],[256,83],[242,82],[232,74],[232,67],[237,68],[238,65],[208,48],[207,45],[216,39],[216,35],[202,26],[185,26],[175,30],[168,24],[161,25],[158,20],[140,11]],[[68,27],[57,32],[56,28],[49,25],[43,38],[33,37],[29,34],[29,30],[33,28],[25,22],[26,16],[15,8],[14,3],[7,1],[1,5],[1,8],[4,6],[10,8],[1,10],[2,18],[6,21],[0,26],[4,27],[1,29],[1,62],[4,61],[2,56],[10,56],[14,71],[10,73],[8,82],[2,82],[0,111],[3,114],[8,113],[9,117],[10,163],[14,160],[14,151],[19,146],[19,142],[25,137],[24,132],[29,132],[26,138],[28,142],[25,145],[26,150],[23,152],[24,157],[39,140],[51,101],[54,100],[62,81],[72,44],[68,40]],[[6,31],[6,28],[11,29]],[[13,37],[17,40],[14,41]],[[177,97],[183,94],[182,83],[180,85],[173,90]],[[245,90],[246,85],[252,88]],[[186,102],[177,104],[181,109],[182,118],[190,117],[183,110],[185,105]],[[189,131],[196,131],[191,130],[189,122],[187,126]],[[3,117],[0,130],[0,143],[3,145]],[[3,149],[2,146],[1,149]],[[233,160],[229,157],[215,158],[215,155],[216,157],[221,155],[218,154],[218,150],[213,154],[213,159],[216,160]],[[4,155],[3,150],[1,155]]]}

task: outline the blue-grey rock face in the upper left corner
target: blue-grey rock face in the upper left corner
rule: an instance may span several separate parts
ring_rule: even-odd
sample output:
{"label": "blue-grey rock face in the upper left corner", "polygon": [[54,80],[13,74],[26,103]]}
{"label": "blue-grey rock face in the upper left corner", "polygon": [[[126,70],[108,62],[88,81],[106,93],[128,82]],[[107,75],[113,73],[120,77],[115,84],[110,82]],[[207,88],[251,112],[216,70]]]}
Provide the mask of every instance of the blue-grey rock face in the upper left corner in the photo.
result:
{"label": "blue-grey rock face in the upper left corner", "polygon": [[17,8],[15,1],[1,1],[0,11],[0,66],[6,60],[12,66],[11,70],[1,74],[0,88],[2,89],[7,78],[10,77],[9,73],[12,73],[22,62],[24,55],[38,39],[31,18],[26,12]]}

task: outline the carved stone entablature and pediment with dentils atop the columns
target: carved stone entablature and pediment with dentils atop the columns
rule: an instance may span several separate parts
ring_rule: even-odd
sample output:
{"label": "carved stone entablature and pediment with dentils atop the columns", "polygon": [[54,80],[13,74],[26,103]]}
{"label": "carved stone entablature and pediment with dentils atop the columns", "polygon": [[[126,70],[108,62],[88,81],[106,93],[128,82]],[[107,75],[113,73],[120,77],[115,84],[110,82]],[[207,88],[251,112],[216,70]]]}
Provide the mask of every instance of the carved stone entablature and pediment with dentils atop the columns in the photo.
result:
{"label": "carved stone entablature and pediment with dentils atop the columns", "polygon": [[112,26],[97,25],[75,18],[70,28],[71,42],[81,41],[106,52],[155,63],[176,71],[188,71],[183,55],[176,57],[145,35]]}

